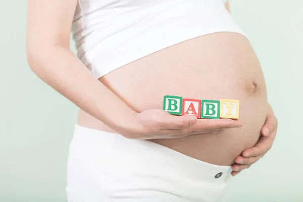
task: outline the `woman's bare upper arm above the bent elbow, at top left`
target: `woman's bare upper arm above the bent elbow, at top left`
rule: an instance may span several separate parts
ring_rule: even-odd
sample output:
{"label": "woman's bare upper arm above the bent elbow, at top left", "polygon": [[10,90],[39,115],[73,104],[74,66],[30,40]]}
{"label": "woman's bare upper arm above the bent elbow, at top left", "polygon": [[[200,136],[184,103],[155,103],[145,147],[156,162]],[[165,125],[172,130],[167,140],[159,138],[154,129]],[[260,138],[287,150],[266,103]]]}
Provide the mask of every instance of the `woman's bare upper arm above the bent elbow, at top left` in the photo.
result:
{"label": "woman's bare upper arm above the bent elbow, at top left", "polygon": [[28,0],[27,52],[47,45],[69,48],[77,0]]}

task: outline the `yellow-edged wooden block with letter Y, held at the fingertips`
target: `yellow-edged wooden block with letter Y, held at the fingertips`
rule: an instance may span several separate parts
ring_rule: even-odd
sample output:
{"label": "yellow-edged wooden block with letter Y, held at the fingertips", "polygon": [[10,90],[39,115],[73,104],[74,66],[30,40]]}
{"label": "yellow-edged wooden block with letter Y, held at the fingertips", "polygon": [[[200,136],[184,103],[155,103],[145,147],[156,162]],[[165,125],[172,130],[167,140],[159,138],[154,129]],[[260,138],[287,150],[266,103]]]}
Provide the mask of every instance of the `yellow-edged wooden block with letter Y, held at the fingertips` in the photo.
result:
{"label": "yellow-edged wooden block with letter Y, held at the fingertips", "polygon": [[220,118],[238,119],[239,118],[239,100],[220,99],[221,112]]}

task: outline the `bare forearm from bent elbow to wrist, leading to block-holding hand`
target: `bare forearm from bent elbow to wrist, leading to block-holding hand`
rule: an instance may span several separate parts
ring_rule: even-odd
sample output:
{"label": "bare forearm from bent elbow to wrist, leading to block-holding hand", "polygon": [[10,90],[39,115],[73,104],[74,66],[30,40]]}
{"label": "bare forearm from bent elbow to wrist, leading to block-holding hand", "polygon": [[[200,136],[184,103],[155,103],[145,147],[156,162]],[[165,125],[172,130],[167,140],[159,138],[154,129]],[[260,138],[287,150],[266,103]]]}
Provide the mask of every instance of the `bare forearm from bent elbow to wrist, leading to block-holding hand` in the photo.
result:
{"label": "bare forearm from bent elbow to wrist, leading to block-holding hand", "polygon": [[28,63],[45,83],[114,130],[133,125],[135,112],[94,78],[69,49],[54,45],[30,50]]}

